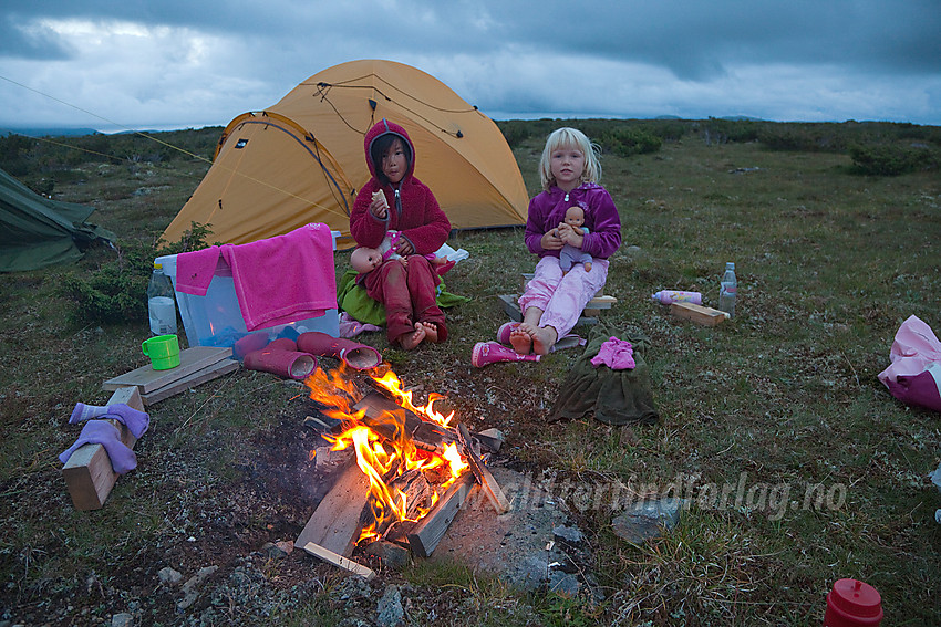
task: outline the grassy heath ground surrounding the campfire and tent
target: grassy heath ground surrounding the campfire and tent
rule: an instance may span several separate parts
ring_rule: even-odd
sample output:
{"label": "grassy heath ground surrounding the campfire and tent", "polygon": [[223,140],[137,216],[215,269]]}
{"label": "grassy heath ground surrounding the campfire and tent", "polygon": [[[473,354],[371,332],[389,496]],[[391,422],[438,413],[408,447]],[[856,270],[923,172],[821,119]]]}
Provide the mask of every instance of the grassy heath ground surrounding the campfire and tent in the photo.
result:
{"label": "grassy heath ground surrounding the campfire and tent", "polygon": [[[531,192],[540,149],[539,138],[515,148]],[[406,385],[444,394],[477,428],[500,428],[508,454],[572,487],[567,504],[589,534],[604,598],[527,595],[461,568],[387,576],[441,591],[428,597],[454,624],[820,624],[841,577],[879,589],[886,624],[937,623],[941,494],[927,474],[941,461],[941,424],[877,380],[908,316],[941,331],[937,171],[864,177],[841,154],[707,146],[696,135],[602,163],[624,240],[606,288],[619,304],[602,320],[650,337],[658,425],[547,425],[575,349],[538,365],[471,366],[473,344],[506,320],[497,295],[532,267],[520,230],[449,242],[471,258],[448,289],[472,301],[448,312],[446,344],[404,353],[381,335],[364,341]],[[152,245],[206,167],[81,164],[55,192],[93,203],[93,220],[122,242]],[[245,370],[155,406],[141,468],[103,510],[72,509],[55,459],[76,435],[69,412],[103,403],[102,380],[143,364],[147,328],[72,322],[56,288],[113,254],[0,280],[0,620],[100,624],[134,600],[151,623],[177,624],[157,569],[231,563],[294,537],[309,515],[292,482],[303,470],[303,391]],[[726,261],[740,285],[728,324],[678,321],[649,300],[695,290],[715,306]],[[675,530],[632,545],[612,533],[617,504],[578,498],[614,485],[672,491],[690,508]],[[289,587],[291,567],[272,565],[269,579]],[[322,574],[327,587],[332,576]],[[428,612],[413,608],[410,620]],[[242,624],[340,620],[320,597],[277,616]]]}

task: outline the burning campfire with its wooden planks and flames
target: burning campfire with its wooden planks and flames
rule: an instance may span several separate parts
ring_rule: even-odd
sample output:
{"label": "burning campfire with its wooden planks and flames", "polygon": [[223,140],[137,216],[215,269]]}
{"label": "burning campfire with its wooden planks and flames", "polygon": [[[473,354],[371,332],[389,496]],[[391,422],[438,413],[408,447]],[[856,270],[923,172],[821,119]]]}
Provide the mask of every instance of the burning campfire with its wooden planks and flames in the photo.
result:
{"label": "burning campfire with its wooden planks and flames", "polygon": [[331,450],[355,451],[298,537],[309,553],[364,576],[371,571],[348,560],[358,544],[384,540],[426,557],[475,480],[498,513],[509,510],[480,457],[499,440],[454,425],[453,411],[435,409],[440,394],[416,406],[391,369],[370,375],[364,394],[342,365],[317,368],[304,383],[327,418]]}

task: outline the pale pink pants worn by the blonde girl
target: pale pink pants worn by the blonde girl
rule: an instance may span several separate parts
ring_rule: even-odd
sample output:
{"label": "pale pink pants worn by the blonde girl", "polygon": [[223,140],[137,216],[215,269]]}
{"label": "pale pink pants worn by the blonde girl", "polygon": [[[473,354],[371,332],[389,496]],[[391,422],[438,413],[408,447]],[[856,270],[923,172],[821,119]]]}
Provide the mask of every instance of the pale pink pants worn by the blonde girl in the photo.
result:
{"label": "pale pink pants worn by the blonde girl", "polygon": [[551,326],[559,337],[563,337],[575,327],[585,305],[604,286],[607,280],[607,259],[596,259],[591,272],[575,265],[568,274],[562,274],[557,258],[544,257],[536,264],[536,272],[526,293],[519,297],[519,309],[524,316],[529,307],[542,310],[539,326]]}

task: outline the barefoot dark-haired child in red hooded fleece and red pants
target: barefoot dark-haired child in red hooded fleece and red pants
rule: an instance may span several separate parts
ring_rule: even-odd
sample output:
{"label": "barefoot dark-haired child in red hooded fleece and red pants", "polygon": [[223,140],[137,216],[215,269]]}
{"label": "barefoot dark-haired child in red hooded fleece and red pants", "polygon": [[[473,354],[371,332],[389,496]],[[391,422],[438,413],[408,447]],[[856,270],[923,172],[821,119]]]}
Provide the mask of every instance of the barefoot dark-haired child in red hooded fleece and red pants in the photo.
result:
{"label": "barefoot dark-haired child in red hooded fleece and red pants", "polygon": [[424,255],[447,241],[451,221],[413,176],[415,147],[404,128],[382,119],[366,133],[364,147],[372,178],[356,195],[350,232],[358,245],[379,248],[387,231],[400,231],[395,252],[405,263],[389,259],[356,282],[385,305],[390,344],[411,351],[422,342],[444,342],[447,327],[436,302],[441,279]]}

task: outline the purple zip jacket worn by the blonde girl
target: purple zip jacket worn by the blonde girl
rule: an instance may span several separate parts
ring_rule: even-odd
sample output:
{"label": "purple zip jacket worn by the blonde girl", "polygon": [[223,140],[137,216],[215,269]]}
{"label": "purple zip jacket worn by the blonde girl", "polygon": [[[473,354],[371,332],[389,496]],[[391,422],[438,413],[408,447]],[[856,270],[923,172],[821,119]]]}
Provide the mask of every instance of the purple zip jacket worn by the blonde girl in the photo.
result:
{"label": "purple zip jacket worn by the blonde girl", "polygon": [[526,247],[544,257],[559,257],[558,250],[544,250],[542,236],[566,221],[566,210],[578,205],[585,211],[588,233],[581,245],[594,259],[608,259],[621,247],[621,217],[608,190],[597,182],[583,182],[568,194],[550,187],[529,201],[526,219]]}

